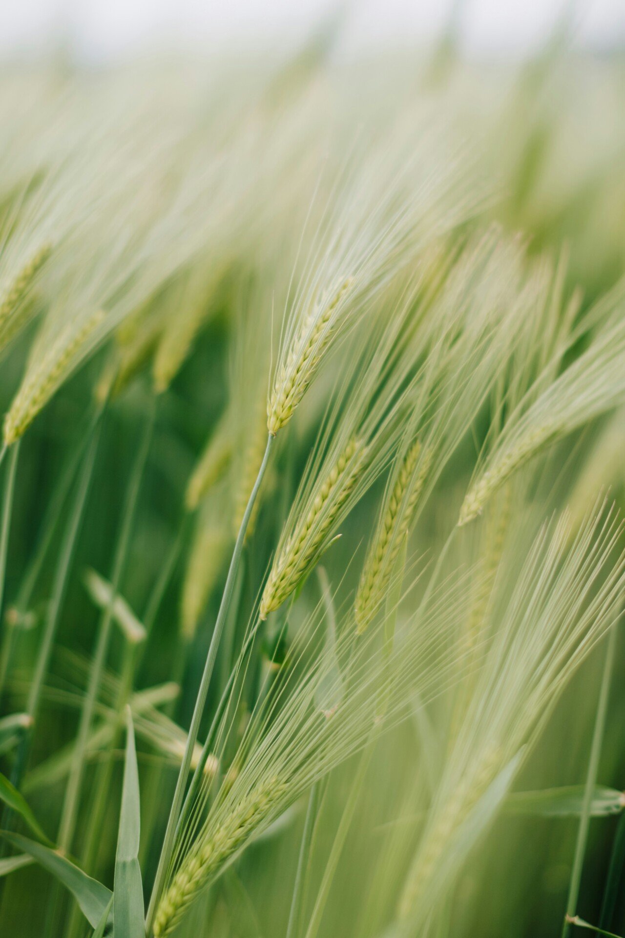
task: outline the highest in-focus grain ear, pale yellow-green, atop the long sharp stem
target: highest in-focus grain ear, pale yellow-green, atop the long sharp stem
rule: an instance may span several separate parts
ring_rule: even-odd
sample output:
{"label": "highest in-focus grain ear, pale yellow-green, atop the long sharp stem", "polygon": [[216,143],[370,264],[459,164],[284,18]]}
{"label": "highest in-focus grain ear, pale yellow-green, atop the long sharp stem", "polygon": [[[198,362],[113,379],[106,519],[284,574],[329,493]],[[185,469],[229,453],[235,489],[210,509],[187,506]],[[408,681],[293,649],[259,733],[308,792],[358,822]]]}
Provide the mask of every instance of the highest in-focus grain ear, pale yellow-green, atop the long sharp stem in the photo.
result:
{"label": "highest in-focus grain ear, pale yellow-green, atop the long sharp stem", "polygon": [[320,302],[304,318],[290,344],[286,362],[278,368],[274,388],[267,403],[267,430],[275,436],[293,416],[319,368],[333,334],[337,311],[349,292],[353,279],[343,280],[326,302]]}

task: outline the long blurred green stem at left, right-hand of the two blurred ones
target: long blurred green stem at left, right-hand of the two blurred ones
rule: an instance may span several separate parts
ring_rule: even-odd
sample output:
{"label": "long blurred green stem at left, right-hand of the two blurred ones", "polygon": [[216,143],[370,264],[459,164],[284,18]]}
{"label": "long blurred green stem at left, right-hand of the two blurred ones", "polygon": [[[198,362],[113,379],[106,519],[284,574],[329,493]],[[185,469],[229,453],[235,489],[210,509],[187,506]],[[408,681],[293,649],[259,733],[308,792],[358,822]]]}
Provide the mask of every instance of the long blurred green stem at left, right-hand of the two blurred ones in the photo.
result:
{"label": "long blurred green stem at left, right-hand of the two blurred ones", "polygon": [[78,736],[76,739],[76,746],[74,748],[72,764],[69,770],[69,777],[67,779],[67,788],[63,801],[63,810],[61,813],[61,823],[59,825],[59,847],[66,851],[68,851],[71,846],[71,841],[74,837],[74,830],[78,818],[82,786],[82,773],[84,770],[87,740],[91,730],[91,723],[96,706],[97,694],[99,692],[102,671],[104,669],[104,662],[106,660],[109,648],[109,640],[111,637],[112,607],[119,590],[124,568],[126,567],[126,557],[130,543],[130,533],[132,531],[135,510],[139,498],[139,491],[141,489],[141,477],[143,476],[143,470],[145,468],[145,461],[147,460],[152,431],[154,430],[155,415],[156,411],[153,408],[150,416],[148,417],[148,420],[146,421],[143,437],[141,440],[141,446],[139,447],[137,458],[133,467],[132,477],[130,479],[130,485],[128,486],[128,492],[126,496],[126,503],[122,513],[122,527],[113,560],[111,577],[111,600],[107,608],[103,610],[100,617],[96,653],[94,655],[89,672],[89,682],[87,685],[86,697],[82,706]]}

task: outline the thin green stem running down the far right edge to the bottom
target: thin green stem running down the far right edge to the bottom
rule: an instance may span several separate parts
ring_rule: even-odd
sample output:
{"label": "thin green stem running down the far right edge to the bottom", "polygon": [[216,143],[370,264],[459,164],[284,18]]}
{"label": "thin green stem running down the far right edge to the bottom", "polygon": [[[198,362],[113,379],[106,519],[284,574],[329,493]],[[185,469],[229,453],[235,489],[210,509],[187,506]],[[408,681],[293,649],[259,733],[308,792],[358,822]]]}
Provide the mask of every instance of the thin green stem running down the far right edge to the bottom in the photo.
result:
{"label": "thin green stem running down the far right edge to the bottom", "polygon": [[577,830],[577,842],[575,844],[575,855],[573,857],[573,870],[571,872],[571,882],[569,885],[569,898],[566,905],[566,915],[562,925],[562,938],[571,931],[572,920],[575,916],[575,908],[579,896],[579,886],[582,879],[582,868],[584,866],[584,854],[586,853],[586,842],[588,840],[588,825],[590,823],[590,803],[592,793],[597,781],[597,770],[599,768],[599,757],[601,755],[603,744],[603,731],[605,728],[605,715],[607,712],[607,701],[612,678],[612,668],[614,665],[615,649],[617,647],[617,626],[610,629],[608,644],[605,651],[605,661],[603,663],[602,684],[599,691],[599,702],[597,703],[597,715],[595,717],[595,726],[592,732],[592,743],[590,746],[590,758],[588,759],[588,774],[586,777],[586,788],[584,791],[584,801],[582,804],[582,814],[579,819],[579,828]]}

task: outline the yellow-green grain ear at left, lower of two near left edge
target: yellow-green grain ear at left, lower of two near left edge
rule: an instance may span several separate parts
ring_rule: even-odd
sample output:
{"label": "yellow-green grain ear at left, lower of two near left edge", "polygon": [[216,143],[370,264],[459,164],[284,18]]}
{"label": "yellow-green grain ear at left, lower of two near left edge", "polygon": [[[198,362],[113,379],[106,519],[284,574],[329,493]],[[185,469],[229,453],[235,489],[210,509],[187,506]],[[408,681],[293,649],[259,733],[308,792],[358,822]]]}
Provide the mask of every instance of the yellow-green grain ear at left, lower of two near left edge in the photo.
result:
{"label": "yellow-green grain ear at left, lower of two near left edge", "polygon": [[101,325],[106,314],[97,310],[78,329],[64,329],[37,364],[26,372],[22,386],[5,417],[5,443],[15,443],[43,406],[50,400],[56,388],[71,371],[77,353],[84,343]]}

